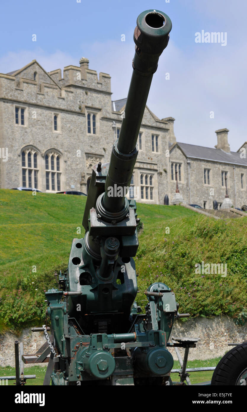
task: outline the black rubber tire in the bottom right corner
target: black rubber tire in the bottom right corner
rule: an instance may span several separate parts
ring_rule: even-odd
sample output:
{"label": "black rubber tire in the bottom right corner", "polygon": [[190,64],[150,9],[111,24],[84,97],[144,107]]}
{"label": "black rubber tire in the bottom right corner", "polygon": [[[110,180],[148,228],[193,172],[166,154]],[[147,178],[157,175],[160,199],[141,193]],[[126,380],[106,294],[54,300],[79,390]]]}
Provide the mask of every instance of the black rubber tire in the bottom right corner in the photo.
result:
{"label": "black rubber tire in the bottom right corner", "polygon": [[247,368],[247,342],[235,346],[219,361],[211,385],[236,386],[239,376]]}

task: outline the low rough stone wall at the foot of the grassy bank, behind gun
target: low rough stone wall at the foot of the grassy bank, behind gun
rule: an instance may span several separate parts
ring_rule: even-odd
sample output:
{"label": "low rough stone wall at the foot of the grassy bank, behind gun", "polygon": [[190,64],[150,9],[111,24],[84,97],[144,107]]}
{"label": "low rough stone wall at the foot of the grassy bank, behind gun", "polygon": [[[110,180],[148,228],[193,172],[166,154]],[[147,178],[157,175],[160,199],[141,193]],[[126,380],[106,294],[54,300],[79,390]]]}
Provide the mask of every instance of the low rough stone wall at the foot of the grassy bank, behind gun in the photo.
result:
{"label": "low rough stone wall at the foot of the grassy bank, behind gun", "polygon": [[[228,342],[247,341],[247,324],[237,326],[227,316],[193,318],[186,322],[176,321],[171,337],[200,338],[196,348],[189,350],[189,360],[216,358],[223,356],[233,347],[228,346]],[[0,366],[14,366],[14,341],[16,339],[23,342],[25,354],[35,353],[45,342],[43,332],[30,332],[29,329],[25,329],[20,336],[7,332],[0,336]],[[177,360],[175,350],[170,348],[169,351]],[[179,351],[183,354],[184,349],[179,348]]]}

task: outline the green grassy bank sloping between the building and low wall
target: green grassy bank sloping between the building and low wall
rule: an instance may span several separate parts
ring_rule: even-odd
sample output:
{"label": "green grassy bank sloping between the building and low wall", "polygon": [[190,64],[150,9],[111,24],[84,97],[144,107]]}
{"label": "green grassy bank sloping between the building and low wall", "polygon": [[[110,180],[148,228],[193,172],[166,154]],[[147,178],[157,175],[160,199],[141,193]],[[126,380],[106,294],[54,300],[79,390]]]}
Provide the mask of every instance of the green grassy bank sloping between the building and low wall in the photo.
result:
{"label": "green grassy bank sloping between the building and low wall", "polygon": [[[83,237],[86,197],[0,190],[0,328],[44,320],[44,291],[68,265],[72,239]],[[247,317],[247,218],[214,220],[180,206],[137,204],[144,229],[135,257],[140,293],[161,281],[179,311],[192,316]],[[81,234],[78,228],[81,227]],[[226,263],[227,276],[195,274],[195,265]]]}

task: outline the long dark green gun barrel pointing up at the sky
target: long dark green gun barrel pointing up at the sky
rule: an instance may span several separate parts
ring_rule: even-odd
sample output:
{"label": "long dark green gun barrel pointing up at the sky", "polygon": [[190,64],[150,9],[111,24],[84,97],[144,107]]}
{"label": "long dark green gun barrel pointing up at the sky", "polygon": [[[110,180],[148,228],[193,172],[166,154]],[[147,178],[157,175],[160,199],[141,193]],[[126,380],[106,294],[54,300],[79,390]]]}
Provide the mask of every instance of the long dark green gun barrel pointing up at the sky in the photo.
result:
{"label": "long dark green gun barrel pointing up at the sky", "polygon": [[[152,77],[157,70],[158,59],[168,44],[171,28],[170,18],[159,10],[147,10],[137,17],[133,74],[119,138],[112,148],[105,182],[103,206],[109,212],[118,212],[124,207],[138,154],[137,138]],[[117,191],[111,191],[115,185]]]}

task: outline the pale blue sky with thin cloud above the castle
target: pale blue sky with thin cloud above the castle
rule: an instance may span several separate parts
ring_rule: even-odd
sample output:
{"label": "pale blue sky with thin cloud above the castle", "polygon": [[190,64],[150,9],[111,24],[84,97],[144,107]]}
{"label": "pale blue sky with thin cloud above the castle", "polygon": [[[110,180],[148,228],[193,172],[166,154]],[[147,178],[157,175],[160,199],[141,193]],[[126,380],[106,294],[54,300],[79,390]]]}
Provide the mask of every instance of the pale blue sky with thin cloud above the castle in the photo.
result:
{"label": "pale blue sky with thin cloud above the castle", "polygon": [[[159,118],[175,117],[177,141],[214,147],[214,131],[224,127],[231,150],[247,140],[245,0],[77,1],[2,0],[0,73],[33,59],[47,71],[79,66],[84,56],[89,68],[111,75],[112,98],[124,98],[136,18],[145,9],[159,9],[172,20],[172,31],[151,85],[149,108]],[[202,30],[226,32],[227,45],[196,43],[195,33]]]}

